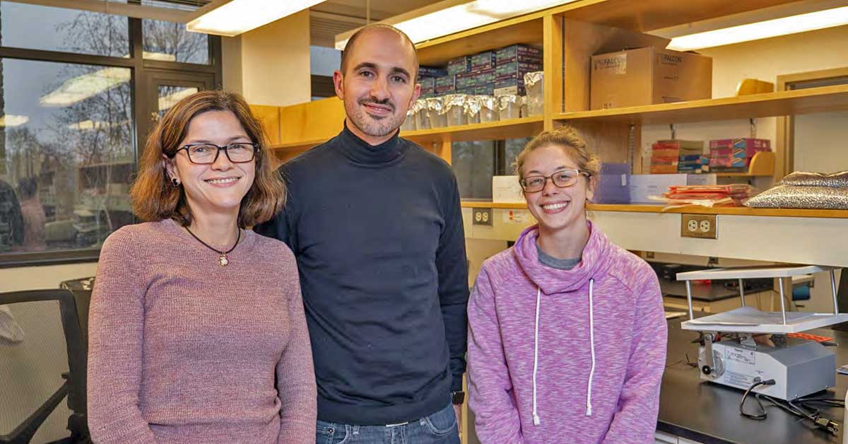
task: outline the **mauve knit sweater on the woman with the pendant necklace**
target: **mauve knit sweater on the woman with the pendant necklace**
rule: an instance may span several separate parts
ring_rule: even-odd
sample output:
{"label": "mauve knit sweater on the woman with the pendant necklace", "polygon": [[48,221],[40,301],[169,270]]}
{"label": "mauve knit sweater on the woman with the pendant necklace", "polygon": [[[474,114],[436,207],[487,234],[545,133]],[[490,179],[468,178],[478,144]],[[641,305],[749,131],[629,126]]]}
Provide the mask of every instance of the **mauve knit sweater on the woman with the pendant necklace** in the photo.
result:
{"label": "mauve knit sweater on the woman with the pendant necklace", "polygon": [[315,442],[294,256],[243,231],[227,257],[170,219],[106,239],[89,318],[95,442]]}

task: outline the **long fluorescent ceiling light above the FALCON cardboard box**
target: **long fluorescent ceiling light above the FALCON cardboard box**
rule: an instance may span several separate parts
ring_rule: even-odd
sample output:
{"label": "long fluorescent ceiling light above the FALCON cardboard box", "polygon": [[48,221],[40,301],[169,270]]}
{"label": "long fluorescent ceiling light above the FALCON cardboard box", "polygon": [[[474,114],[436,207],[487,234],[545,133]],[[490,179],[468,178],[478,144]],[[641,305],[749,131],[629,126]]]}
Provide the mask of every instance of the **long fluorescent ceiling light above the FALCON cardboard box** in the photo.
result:
{"label": "long fluorescent ceiling light above the FALCON cardboard box", "polygon": [[668,49],[691,51],[848,24],[848,6],[672,38]]}

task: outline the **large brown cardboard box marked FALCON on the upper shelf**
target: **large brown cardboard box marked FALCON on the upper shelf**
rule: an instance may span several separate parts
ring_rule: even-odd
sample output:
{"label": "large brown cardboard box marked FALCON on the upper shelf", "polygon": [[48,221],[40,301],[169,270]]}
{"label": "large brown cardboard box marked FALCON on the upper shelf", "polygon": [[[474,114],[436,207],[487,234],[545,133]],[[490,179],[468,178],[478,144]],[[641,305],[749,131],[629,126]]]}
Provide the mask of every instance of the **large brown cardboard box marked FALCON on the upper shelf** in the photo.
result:
{"label": "large brown cardboard box marked FALCON on the upper shelf", "polygon": [[590,109],[666,104],[712,97],[712,59],[639,48],[592,56]]}

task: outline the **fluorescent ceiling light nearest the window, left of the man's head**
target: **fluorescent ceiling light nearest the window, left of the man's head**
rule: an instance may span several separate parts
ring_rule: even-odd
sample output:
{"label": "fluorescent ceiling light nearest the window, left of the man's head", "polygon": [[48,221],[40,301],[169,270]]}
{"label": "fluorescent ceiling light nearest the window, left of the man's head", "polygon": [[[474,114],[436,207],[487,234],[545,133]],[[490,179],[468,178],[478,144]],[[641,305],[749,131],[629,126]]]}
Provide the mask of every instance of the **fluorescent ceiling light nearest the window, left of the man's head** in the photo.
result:
{"label": "fluorescent ceiling light nearest the window, left of the man's head", "polygon": [[[280,20],[323,0],[232,0],[187,23],[193,32],[234,37]],[[215,3],[211,3],[215,4]],[[201,8],[203,11],[205,8]]]}

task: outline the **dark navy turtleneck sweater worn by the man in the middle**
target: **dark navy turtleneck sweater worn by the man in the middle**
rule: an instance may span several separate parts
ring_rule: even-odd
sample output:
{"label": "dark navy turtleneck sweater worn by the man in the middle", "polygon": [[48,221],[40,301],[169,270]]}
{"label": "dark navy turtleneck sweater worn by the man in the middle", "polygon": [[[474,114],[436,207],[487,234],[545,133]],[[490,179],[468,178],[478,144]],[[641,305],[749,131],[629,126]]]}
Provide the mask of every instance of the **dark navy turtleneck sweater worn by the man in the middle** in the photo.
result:
{"label": "dark navy turtleneck sweater worn by the man in the middle", "polygon": [[281,172],[286,207],[255,229],[297,257],[318,419],[396,424],[447,407],[468,302],[449,165],[397,133],[371,146],[345,126]]}

